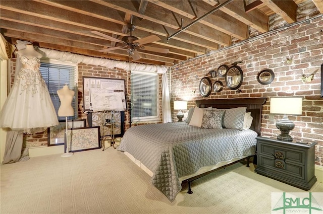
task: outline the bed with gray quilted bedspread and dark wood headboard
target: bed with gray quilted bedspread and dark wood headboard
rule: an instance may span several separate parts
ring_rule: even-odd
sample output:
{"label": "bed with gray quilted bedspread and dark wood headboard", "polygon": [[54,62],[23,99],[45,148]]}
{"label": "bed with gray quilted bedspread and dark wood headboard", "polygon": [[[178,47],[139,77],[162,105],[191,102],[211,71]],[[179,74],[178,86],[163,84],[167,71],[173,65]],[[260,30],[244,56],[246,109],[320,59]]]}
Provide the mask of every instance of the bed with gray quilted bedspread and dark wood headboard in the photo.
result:
{"label": "bed with gray quilted bedspread and dark wood headboard", "polygon": [[[198,108],[195,109],[204,109],[203,115],[205,112],[207,115],[222,112],[223,120],[229,118],[229,112],[233,112],[233,115],[241,109],[250,112],[252,123],[246,130],[229,127],[228,120],[226,124],[222,121],[222,126],[226,125],[226,128],[201,128],[192,125],[195,120],[189,123],[139,125],[125,132],[118,150],[149,174],[152,185],[170,201],[174,201],[183,182],[188,182],[188,193],[192,193],[190,183],[193,180],[241,160],[247,159],[249,163],[250,157],[255,155],[255,137],[260,134],[265,100],[196,100]],[[197,112],[195,109],[194,112]],[[196,117],[193,115],[193,118]]]}

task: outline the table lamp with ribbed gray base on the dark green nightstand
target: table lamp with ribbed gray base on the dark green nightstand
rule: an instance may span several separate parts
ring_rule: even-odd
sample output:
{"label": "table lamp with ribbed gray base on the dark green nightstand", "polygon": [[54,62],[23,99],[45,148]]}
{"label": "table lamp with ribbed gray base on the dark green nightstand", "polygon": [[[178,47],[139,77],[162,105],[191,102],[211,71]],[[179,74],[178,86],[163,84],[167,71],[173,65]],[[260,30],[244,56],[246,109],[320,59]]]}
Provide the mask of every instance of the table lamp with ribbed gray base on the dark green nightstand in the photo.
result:
{"label": "table lamp with ribbed gray base on the dark green nightstand", "polygon": [[302,97],[272,97],[270,108],[271,114],[283,114],[281,120],[276,121],[276,127],[281,130],[277,139],[292,141],[289,132],[293,130],[295,124],[288,119],[287,115],[302,115]]}

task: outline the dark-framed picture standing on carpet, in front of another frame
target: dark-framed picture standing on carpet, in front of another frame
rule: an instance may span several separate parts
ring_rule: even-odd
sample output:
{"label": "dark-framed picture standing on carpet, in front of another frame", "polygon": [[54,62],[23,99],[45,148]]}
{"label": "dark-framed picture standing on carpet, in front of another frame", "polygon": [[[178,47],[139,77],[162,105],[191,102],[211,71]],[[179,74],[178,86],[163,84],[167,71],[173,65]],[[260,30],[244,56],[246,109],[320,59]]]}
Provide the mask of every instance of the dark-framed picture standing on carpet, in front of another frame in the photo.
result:
{"label": "dark-framed picture standing on carpet, in front of another frame", "polygon": [[68,129],[67,144],[69,152],[100,149],[100,126]]}

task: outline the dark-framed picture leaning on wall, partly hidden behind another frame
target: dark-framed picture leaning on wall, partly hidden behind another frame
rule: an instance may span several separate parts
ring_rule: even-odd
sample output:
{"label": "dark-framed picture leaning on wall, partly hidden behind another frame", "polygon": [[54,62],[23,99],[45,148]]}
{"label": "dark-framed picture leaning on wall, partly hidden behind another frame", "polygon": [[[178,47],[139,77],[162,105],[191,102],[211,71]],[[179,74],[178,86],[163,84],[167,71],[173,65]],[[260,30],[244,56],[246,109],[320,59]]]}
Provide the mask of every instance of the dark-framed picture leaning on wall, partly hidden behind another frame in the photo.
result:
{"label": "dark-framed picture leaning on wall, partly hidden behind another frame", "polygon": [[[67,128],[86,127],[86,119],[68,120]],[[66,121],[60,121],[60,124],[47,128],[47,146],[64,145],[65,143]]]}

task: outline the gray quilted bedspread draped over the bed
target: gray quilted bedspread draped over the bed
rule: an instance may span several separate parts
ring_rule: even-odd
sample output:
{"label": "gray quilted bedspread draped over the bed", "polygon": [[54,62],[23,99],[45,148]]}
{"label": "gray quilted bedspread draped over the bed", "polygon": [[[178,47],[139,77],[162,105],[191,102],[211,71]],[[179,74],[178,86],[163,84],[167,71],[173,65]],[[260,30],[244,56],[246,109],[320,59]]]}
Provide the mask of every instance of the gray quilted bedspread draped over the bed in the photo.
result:
{"label": "gray quilted bedspread draped over the bed", "polygon": [[129,128],[118,147],[153,172],[152,184],[174,201],[180,177],[203,166],[255,154],[257,133],[252,130],[204,129],[185,122]]}

